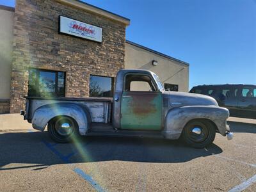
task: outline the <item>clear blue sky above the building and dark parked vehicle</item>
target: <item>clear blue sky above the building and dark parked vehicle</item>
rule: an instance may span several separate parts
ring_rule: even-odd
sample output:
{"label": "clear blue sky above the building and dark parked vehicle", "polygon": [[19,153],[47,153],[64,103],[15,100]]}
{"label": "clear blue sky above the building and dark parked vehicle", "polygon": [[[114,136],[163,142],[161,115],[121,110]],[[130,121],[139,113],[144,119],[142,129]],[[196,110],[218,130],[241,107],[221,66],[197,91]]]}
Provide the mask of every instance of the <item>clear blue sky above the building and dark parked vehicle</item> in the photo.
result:
{"label": "clear blue sky above the building and dark parked vehicle", "polygon": [[256,0],[83,1],[131,19],[127,40],[189,63],[189,88],[256,84]]}

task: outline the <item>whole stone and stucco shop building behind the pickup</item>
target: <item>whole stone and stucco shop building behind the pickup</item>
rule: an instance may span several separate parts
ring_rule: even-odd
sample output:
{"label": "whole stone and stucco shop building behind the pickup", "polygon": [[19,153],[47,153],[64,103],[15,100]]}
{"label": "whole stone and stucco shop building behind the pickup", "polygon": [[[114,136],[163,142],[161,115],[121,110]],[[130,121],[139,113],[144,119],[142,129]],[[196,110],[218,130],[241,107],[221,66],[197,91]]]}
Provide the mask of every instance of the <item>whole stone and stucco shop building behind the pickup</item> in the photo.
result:
{"label": "whole stone and stucco shop building behind the pickup", "polygon": [[27,95],[111,97],[121,68],[163,72],[188,91],[188,63],[125,41],[130,20],[90,4],[16,0],[0,7],[0,24],[0,113],[19,113]]}

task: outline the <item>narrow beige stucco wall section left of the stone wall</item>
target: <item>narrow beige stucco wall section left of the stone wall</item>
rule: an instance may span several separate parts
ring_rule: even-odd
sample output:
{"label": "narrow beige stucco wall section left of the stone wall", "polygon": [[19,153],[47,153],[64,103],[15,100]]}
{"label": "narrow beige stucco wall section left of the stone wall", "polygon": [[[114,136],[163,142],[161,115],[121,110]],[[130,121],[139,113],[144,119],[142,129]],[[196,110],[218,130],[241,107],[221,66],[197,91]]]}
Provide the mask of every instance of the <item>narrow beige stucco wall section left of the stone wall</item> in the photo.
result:
{"label": "narrow beige stucco wall section left of the stone wall", "polygon": [[10,99],[13,15],[12,10],[0,6],[0,100]]}

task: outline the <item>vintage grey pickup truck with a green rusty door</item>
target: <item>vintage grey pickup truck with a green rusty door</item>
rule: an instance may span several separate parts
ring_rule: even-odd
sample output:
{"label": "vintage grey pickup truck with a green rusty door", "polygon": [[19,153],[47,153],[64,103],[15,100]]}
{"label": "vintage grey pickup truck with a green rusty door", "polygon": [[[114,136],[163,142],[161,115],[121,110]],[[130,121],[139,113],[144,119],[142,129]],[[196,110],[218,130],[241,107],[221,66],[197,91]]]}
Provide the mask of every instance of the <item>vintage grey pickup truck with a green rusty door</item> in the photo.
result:
{"label": "vintage grey pickup truck with a green rusty door", "polygon": [[[146,83],[141,91],[134,83]],[[47,131],[54,141],[65,143],[76,136],[139,136],[177,140],[202,148],[216,132],[232,139],[228,109],[212,97],[170,92],[149,70],[120,70],[111,98],[26,97],[24,120]]]}

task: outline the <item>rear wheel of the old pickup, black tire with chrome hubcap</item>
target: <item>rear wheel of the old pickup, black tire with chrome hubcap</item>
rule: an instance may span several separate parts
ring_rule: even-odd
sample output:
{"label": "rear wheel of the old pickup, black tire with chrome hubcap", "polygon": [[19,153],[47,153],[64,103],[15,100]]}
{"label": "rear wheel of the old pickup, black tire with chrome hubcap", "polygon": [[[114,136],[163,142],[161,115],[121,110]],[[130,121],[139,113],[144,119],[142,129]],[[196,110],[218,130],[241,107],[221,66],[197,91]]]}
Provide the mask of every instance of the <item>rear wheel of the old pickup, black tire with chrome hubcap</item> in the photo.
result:
{"label": "rear wheel of the old pickup, black tire with chrome hubcap", "polygon": [[52,140],[67,143],[77,136],[77,123],[69,116],[57,116],[48,123],[48,133]]}

